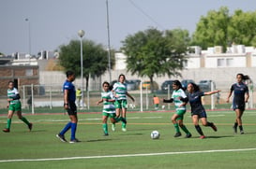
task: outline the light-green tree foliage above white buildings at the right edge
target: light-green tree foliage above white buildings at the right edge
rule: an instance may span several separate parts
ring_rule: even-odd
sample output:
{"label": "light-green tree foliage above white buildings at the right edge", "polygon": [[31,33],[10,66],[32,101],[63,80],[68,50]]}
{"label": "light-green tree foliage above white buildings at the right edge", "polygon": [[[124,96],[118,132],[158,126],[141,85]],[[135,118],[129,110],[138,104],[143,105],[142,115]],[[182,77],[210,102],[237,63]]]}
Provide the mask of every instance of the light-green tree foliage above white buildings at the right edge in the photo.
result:
{"label": "light-green tree foliage above white buildings at the right edge", "polygon": [[203,49],[222,46],[224,50],[233,43],[255,46],[255,25],[256,11],[244,13],[238,9],[230,15],[227,7],[220,7],[218,11],[210,10],[197,23],[191,45]]}

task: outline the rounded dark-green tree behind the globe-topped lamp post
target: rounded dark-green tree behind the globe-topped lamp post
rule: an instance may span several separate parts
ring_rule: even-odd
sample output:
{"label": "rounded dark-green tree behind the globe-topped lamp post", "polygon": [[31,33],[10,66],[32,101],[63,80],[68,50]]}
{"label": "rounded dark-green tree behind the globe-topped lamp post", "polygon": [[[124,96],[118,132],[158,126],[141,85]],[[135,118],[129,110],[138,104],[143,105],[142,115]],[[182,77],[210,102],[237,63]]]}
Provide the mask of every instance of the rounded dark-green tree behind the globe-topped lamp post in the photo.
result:
{"label": "rounded dark-green tree behind the globe-topped lamp post", "polygon": [[[60,64],[66,70],[73,70],[77,77],[81,75],[81,42],[71,40],[68,45],[60,47]],[[114,65],[113,51],[111,52],[111,67]],[[108,70],[108,51],[101,44],[91,40],[83,40],[83,77],[86,79],[88,90],[89,77],[99,77]]]}

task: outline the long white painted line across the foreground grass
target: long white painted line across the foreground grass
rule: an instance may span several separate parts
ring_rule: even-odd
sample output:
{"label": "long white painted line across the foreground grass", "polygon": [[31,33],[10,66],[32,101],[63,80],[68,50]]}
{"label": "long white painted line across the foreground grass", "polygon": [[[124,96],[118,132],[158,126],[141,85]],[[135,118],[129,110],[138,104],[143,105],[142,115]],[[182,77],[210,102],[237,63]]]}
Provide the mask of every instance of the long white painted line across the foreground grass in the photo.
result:
{"label": "long white painted line across the foreground grass", "polygon": [[144,157],[144,156],[161,156],[161,155],[175,155],[175,154],[199,154],[199,153],[213,153],[213,152],[235,152],[235,151],[251,151],[256,148],[242,148],[242,149],[213,149],[203,151],[183,151],[183,152],[159,152],[159,153],[145,153],[145,154],[123,154],[123,155],[106,155],[106,156],[84,156],[84,157],[64,157],[64,158],[49,158],[49,159],[13,159],[0,160],[0,162],[46,162],[46,161],[68,161],[81,159],[104,159],[104,158],[120,158],[120,157]]}

